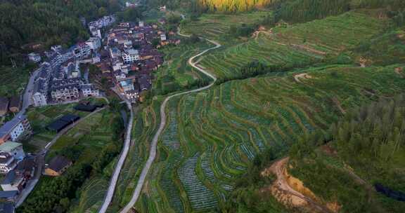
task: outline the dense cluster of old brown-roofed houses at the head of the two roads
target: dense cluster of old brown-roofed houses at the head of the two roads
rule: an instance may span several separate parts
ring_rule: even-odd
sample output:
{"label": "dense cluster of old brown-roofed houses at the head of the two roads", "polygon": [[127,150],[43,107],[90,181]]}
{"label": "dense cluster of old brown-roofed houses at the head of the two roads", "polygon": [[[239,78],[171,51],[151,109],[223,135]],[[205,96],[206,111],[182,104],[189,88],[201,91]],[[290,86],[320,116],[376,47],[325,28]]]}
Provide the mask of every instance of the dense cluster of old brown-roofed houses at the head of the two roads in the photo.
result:
{"label": "dense cluster of old brown-roofed houses at the head of the two roads", "polygon": [[179,44],[178,39],[167,39],[158,25],[145,22],[122,22],[108,32],[107,47],[99,64],[106,78],[110,78],[122,94],[136,102],[140,92],[152,85],[152,72],[163,63],[162,54],[152,45]]}

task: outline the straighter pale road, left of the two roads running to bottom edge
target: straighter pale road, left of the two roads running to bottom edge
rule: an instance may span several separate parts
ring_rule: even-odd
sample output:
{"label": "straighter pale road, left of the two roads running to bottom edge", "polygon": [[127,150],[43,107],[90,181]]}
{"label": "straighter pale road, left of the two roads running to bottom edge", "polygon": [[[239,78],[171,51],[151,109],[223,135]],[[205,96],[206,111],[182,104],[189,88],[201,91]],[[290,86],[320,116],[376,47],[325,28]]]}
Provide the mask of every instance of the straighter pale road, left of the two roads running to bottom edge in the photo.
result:
{"label": "straighter pale road, left of the two roads running to bottom edge", "polygon": [[111,200],[113,200],[115,186],[117,186],[118,177],[120,177],[122,166],[124,165],[125,159],[127,158],[129,152],[129,146],[131,144],[132,123],[134,121],[134,110],[132,110],[131,103],[129,101],[126,101],[126,103],[128,109],[131,111],[131,118],[129,118],[127,132],[125,133],[124,149],[122,149],[120,159],[115,166],[113,177],[111,178],[110,185],[108,186],[107,194],[105,195],[103,205],[101,206],[98,213],[105,213],[105,211],[107,211],[108,209],[108,205],[110,205]]}

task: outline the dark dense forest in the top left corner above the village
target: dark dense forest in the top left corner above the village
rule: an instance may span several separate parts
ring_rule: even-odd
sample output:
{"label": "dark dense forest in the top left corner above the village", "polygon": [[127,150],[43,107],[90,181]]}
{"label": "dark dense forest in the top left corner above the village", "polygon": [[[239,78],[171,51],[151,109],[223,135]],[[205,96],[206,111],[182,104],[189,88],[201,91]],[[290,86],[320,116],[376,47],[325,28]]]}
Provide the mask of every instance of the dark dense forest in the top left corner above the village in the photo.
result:
{"label": "dark dense forest in the top left corner above the village", "polygon": [[86,29],[79,18],[94,20],[115,13],[121,8],[118,0],[6,0],[0,2],[0,64],[20,60],[30,51],[27,44],[70,45],[86,39]]}

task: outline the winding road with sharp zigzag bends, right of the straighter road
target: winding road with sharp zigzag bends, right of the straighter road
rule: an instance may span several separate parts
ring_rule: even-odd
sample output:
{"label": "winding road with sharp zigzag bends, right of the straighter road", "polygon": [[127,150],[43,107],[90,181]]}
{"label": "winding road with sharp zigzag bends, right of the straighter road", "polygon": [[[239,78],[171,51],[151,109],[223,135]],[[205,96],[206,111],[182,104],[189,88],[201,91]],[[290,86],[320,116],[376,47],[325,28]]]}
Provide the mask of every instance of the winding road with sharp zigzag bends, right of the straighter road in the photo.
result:
{"label": "winding road with sharp zigzag bends, right of the straighter road", "polygon": [[[180,31],[178,31],[178,32],[179,32],[178,34],[180,36],[189,37],[188,35],[181,34]],[[139,177],[138,184],[136,184],[136,188],[135,188],[134,194],[132,195],[131,200],[121,210],[121,213],[129,212],[129,210],[131,209],[131,207],[133,207],[135,205],[136,200],[138,200],[139,195],[141,194],[141,190],[142,190],[143,184],[145,183],[146,176],[147,176],[147,174],[148,174],[148,172],[150,170],[150,166],[152,165],[153,160],[155,160],[155,157],[156,157],[156,146],[158,145],[158,139],[160,137],[160,134],[162,134],[163,129],[165,128],[165,125],[166,125],[165,108],[166,108],[167,102],[169,102],[169,100],[172,99],[173,97],[176,97],[176,96],[179,96],[179,95],[185,95],[185,94],[188,94],[188,93],[191,93],[191,92],[199,92],[199,91],[202,91],[202,90],[206,90],[207,88],[212,87],[212,85],[214,85],[215,81],[217,81],[217,78],[215,78],[215,76],[210,74],[208,71],[205,71],[204,69],[198,67],[196,65],[197,62],[194,62],[194,59],[196,57],[200,57],[201,55],[207,53],[210,50],[221,47],[221,44],[217,43],[216,41],[211,41],[211,40],[208,40],[208,39],[205,39],[205,40],[209,41],[210,43],[213,43],[215,46],[212,47],[212,48],[208,48],[208,49],[204,50],[203,52],[198,53],[197,55],[194,55],[193,57],[188,59],[188,64],[190,64],[191,67],[194,67],[195,69],[198,69],[198,71],[201,71],[203,74],[209,76],[214,81],[212,81],[212,83],[210,83],[210,85],[207,85],[207,86],[205,86],[203,88],[198,88],[198,89],[195,89],[195,90],[189,90],[189,91],[186,91],[186,92],[180,92],[180,93],[177,93],[175,95],[171,95],[171,96],[167,97],[165,99],[165,101],[163,101],[162,105],[160,106],[160,117],[161,117],[160,126],[159,126],[159,129],[158,129],[158,132],[156,132],[155,136],[153,137],[152,144],[150,146],[149,158],[146,161],[145,166],[143,167],[143,170],[141,172],[141,176]]]}

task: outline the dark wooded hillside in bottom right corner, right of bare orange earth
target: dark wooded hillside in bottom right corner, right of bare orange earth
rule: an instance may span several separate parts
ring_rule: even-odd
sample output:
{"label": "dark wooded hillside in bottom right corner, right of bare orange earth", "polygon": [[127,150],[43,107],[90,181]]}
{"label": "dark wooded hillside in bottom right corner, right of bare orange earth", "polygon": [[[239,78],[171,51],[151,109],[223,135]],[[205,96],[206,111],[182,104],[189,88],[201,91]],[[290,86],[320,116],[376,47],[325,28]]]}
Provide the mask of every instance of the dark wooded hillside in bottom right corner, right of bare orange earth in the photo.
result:
{"label": "dark wooded hillside in bottom right corner, right of bare orange earth", "polygon": [[404,95],[349,111],[330,127],[329,139],[309,137],[292,149],[290,173],[340,212],[403,212],[404,116]]}

